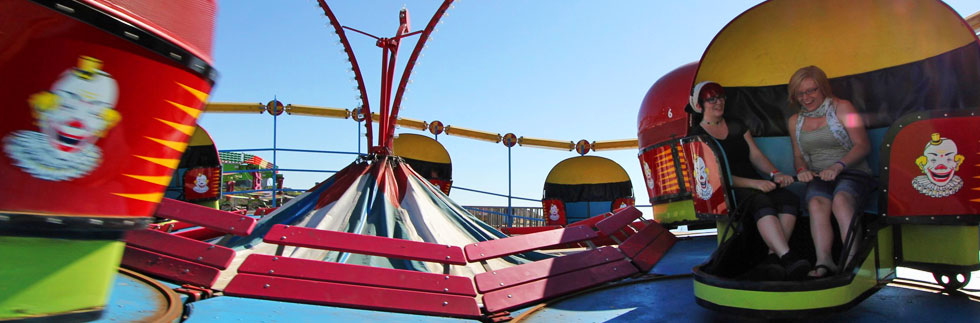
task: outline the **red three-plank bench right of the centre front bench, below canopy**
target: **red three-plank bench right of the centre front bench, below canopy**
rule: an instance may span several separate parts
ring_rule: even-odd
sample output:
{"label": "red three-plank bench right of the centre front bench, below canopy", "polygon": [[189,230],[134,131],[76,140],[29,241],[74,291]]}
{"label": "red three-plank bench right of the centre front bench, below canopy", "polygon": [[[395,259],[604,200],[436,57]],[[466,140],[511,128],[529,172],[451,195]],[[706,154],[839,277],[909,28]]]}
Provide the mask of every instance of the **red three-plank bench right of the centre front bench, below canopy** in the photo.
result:
{"label": "red three-plank bench right of the centre front bench, below canopy", "polygon": [[[620,213],[639,212],[635,208],[624,210],[620,210]],[[616,218],[616,215],[610,218]],[[627,221],[623,226],[626,224],[629,222]],[[479,261],[486,268],[487,259],[588,241],[598,236],[599,233],[590,226],[570,226],[474,243],[467,245],[463,250],[470,262]],[[636,273],[638,273],[637,268],[631,265],[616,248],[602,247],[508,268],[497,270],[487,268],[487,272],[474,276],[473,281],[476,283],[477,290],[484,293],[483,305],[486,311],[496,313],[622,279]]]}

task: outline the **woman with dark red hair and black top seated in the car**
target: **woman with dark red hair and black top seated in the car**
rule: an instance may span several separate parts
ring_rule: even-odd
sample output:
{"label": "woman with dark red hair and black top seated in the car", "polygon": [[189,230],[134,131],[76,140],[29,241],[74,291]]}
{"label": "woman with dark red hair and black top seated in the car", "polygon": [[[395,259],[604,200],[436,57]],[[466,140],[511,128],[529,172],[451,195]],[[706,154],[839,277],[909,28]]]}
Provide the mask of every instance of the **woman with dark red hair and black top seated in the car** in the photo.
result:
{"label": "woman with dark red hair and black top seated in the car", "polygon": [[[710,135],[721,144],[728,159],[732,191],[739,209],[752,216],[762,240],[769,247],[769,257],[762,265],[768,267],[763,271],[769,275],[767,279],[805,278],[810,271],[810,262],[789,246],[800,209],[799,198],[781,188],[792,184],[793,177],[779,173],[756,146],[744,123],[724,117],[725,89],[721,85],[714,82],[695,85],[690,107],[696,113],[694,120],[700,119],[693,125],[692,134]],[[760,172],[769,174],[769,179],[759,176]]]}

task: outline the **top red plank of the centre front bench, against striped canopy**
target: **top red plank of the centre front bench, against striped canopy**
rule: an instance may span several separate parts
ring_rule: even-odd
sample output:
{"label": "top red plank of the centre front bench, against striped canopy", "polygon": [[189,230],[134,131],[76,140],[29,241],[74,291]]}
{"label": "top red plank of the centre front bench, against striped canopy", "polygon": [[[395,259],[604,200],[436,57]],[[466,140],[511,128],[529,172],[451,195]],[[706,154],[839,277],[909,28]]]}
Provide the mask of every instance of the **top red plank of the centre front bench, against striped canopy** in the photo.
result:
{"label": "top red plank of the centre front bench, against striped canopy", "polygon": [[463,250],[456,246],[317,230],[277,224],[263,241],[287,246],[337,250],[363,255],[465,265]]}

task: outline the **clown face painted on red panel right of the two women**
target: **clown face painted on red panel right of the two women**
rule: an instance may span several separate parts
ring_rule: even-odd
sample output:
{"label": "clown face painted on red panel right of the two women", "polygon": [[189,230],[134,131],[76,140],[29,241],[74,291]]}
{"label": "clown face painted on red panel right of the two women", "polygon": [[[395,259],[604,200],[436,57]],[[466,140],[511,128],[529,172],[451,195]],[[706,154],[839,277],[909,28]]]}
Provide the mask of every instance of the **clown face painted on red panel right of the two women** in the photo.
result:
{"label": "clown face painted on red panel right of the two women", "polygon": [[923,175],[912,179],[912,187],[929,197],[947,197],[963,187],[963,179],[956,176],[956,171],[966,157],[957,153],[956,143],[939,133],[933,133],[931,139],[922,156],[915,159]]}

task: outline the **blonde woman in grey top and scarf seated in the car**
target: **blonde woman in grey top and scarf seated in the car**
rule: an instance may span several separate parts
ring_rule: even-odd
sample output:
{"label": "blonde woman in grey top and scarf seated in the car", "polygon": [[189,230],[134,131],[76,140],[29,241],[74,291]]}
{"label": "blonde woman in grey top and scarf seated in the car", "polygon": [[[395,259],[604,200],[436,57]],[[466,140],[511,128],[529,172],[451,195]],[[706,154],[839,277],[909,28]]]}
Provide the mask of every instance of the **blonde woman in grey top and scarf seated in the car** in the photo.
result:
{"label": "blonde woman in grey top and scarf seated in the car", "polygon": [[851,102],[834,97],[827,75],[816,66],[793,73],[789,104],[800,109],[787,126],[797,179],[808,183],[804,201],[817,256],[809,275],[826,277],[838,270],[830,254],[834,239],[830,215],[837,219],[841,239],[846,239],[857,202],[871,186],[871,168],[864,160],[870,150],[868,134],[861,115]]}

